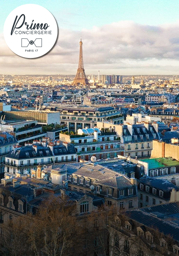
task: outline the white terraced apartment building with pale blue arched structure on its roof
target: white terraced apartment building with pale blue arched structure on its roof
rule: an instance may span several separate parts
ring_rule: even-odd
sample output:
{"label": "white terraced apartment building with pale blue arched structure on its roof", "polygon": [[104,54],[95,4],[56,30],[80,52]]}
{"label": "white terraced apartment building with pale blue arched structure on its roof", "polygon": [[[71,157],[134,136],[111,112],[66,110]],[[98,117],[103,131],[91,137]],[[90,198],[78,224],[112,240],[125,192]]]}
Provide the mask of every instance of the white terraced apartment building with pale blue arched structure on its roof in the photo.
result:
{"label": "white terraced apartment building with pale blue arched structure on its roof", "polygon": [[123,155],[123,147],[116,132],[101,132],[98,128],[78,129],[77,135],[60,133],[60,141],[73,143],[77,152],[78,162],[96,159],[117,158]]}

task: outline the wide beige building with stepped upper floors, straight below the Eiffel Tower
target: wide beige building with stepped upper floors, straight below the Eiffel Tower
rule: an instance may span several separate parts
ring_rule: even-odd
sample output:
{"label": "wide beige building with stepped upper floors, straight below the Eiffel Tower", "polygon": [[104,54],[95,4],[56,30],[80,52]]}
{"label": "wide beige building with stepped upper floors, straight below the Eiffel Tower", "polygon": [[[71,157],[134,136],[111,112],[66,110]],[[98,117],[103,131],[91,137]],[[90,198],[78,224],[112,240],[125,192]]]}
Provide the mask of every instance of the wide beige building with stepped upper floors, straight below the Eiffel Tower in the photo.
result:
{"label": "wide beige building with stepped upper floors, straight below the Eiffel Tower", "polygon": [[77,132],[78,129],[94,128],[97,122],[112,120],[115,124],[122,124],[123,117],[119,110],[113,107],[104,108],[62,108],[60,123],[68,126],[68,131]]}

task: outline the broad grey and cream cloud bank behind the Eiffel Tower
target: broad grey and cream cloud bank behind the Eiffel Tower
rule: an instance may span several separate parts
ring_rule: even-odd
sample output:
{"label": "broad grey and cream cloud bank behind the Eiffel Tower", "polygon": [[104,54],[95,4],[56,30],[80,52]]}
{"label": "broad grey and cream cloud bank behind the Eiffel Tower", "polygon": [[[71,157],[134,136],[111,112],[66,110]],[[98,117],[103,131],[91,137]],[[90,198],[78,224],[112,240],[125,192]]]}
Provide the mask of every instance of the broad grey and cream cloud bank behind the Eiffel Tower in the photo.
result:
{"label": "broad grey and cream cloud bank behind the Eiffel Tower", "polygon": [[60,28],[51,52],[42,58],[25,59],[8,48],[1,34],[0,73],[75,74],[82,36],[87,74],[98,69],[101,74],[178,74],[178,35],[179,23],[148,26],[120,21],[82,31]]}

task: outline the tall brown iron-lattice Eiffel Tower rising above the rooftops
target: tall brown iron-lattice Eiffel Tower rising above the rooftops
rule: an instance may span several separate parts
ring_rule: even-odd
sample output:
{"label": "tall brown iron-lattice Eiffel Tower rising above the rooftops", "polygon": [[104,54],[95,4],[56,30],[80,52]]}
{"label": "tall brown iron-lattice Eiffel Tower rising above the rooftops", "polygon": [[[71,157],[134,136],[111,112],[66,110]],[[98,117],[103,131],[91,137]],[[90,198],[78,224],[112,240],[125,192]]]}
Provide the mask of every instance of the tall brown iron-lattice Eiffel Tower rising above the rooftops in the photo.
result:
{"label": "tall brown iron-lattice Eiffel Tower rising above the rooftops", "polygon": [[84,65],[83,65],[83,50],[82,50],[82,39],[80,40],[80,55],[79,55],[79,63],[78,69],[76,73],[76,77],[74,78],[74,85],[89,85],[88,79],[85,74]]}

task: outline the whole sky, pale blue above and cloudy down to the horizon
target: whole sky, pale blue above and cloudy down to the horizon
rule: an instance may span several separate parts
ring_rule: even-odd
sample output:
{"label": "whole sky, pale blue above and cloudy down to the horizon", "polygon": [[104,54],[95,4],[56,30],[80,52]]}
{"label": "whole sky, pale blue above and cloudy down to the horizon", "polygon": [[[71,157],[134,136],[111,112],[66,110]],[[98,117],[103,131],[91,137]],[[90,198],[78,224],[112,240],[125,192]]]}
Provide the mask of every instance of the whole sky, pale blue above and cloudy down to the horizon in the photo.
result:
{"label": "whole sky, pale blue above and cloudy down to the horizon", "polygon": [[[56,18],[58,41],[41,58],[14,54],[8,14],[39,4]],[[82,36],[86,74],[179,74],[179,0],[0,0],[0,74],[76,74]]]}

